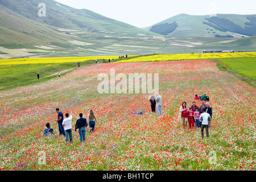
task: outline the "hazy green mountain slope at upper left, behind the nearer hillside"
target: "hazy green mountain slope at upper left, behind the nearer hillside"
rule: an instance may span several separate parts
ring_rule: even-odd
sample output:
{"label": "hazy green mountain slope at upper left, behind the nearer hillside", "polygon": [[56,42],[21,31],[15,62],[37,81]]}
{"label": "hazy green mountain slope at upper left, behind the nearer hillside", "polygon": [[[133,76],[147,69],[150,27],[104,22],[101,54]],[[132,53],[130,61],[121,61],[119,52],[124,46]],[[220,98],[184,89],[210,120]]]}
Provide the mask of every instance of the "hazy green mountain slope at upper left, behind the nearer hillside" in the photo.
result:
{"label": "hazy green mountain slope at upper left, behind the nearer hillside", "polygon": [[[46,5],[46,16],[40,17],[38,11],[40,3]],[[63,5],[53,0],[0,0],[0,4],[26,18],[36,22],[48,24],[59,28],[72,30],[85,30],[89,32],[115,32],[130,34],[147,34],[148,31],[131,26],[114,19],[106,18],[89,10],[79,10]]]}

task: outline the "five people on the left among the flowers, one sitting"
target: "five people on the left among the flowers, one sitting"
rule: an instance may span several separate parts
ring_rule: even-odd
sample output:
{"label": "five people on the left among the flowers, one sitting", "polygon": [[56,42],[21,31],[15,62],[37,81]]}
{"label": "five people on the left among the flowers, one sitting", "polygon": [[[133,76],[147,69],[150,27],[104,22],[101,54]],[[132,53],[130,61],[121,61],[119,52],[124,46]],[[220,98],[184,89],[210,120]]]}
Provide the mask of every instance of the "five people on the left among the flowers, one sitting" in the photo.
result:
{"label": "five people on the left among the flowers, one sitting", "polygon": [[[59,135],[63,135],[66,138],[66,142],[71,142],[73,143],[73,134],[72,134],[72,110],[69,113],[65,113],[65,118],[63,113],[60,111],[59,108],[56,108],[56,112],[58,113],[56,122],[58,124],[58,128],[59,128]],[[89,120],[89,130],[90,132],[94,131],[97,119],[96,116],[93,112],[92,109],[90,109],[89,114],[87,115],[87,120]],[[75,131],[77,131],[77,129],[79,130],[79,135],[80,135],[80,141],[85,142],[85,127],[88,126],[88,122],[87,122],[86,118],[83,118],[83,114],[80,113],[79,114],[79,118],[76,121],[75,124]],[[49,134],[53,134],[53,129],[51,129],[51,124],[47,123],[46,127],[44,129],[44,135],[49,135]]]}

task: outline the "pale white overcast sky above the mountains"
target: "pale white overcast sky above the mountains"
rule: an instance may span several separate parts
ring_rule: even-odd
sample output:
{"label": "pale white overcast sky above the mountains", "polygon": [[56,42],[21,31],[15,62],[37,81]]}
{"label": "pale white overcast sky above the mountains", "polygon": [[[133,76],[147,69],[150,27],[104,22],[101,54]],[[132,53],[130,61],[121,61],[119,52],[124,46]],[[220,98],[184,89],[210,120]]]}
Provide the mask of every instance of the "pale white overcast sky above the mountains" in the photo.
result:
{"label": "pale white overcast sky above the mountains", "polygon": [[255,0],[55,0],[87,9],[136,27],[147,27],[172,16],[256,14]]}

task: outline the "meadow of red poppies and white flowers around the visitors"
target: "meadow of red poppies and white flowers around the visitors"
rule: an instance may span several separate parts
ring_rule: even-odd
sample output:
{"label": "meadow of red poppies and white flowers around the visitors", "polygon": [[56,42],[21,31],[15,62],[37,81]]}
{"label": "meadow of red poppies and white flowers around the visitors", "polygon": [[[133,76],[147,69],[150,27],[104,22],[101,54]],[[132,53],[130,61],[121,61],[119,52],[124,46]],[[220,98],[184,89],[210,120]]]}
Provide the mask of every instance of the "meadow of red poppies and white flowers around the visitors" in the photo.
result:
{"label": "meadow of red poppies and white flowers around the visitors", "polygon": [[[159,73],[162,113],[148,94],[99,94],[99,73]],[[179,107],[207,93],[213,108],[209,138],[183,128]],[[197,106],[200,101],[196,100]],[[94,64],[43,83],[0,91],[0,170],[255,170],[255,88],[219,71],[210,60]],[[73,143],[55,119],[72,110]],[[93,109],[94,133],[75,131]],[[141,109],[144,115],[131,114]],[[43,136],[47,122],[55,132]]]}

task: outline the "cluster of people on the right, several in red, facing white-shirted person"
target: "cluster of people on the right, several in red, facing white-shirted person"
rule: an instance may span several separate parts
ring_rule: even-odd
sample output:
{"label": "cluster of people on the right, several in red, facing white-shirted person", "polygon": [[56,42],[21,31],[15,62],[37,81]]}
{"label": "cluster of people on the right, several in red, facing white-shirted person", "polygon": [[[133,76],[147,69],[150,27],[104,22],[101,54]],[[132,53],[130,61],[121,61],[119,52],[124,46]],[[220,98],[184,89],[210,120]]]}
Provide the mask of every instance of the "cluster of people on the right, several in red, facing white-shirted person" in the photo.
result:
{"label": "cluster of people on the right, several in red, facing white-shirted person", "polygon": [[204,128],[207,138],[209,137],[209,128],[212,125],[212,107],[209,104],[209,97],[204,94],[202,97],[197,95],[195,99],[200,99],[201,105],[196,106],[196,102],[193,101],[190,107],[187,106],[187,102],[183,102],[180,106],[180,118],[183,127],[189,125],[189,129],[200,128],[201,137],[204,138]]}

